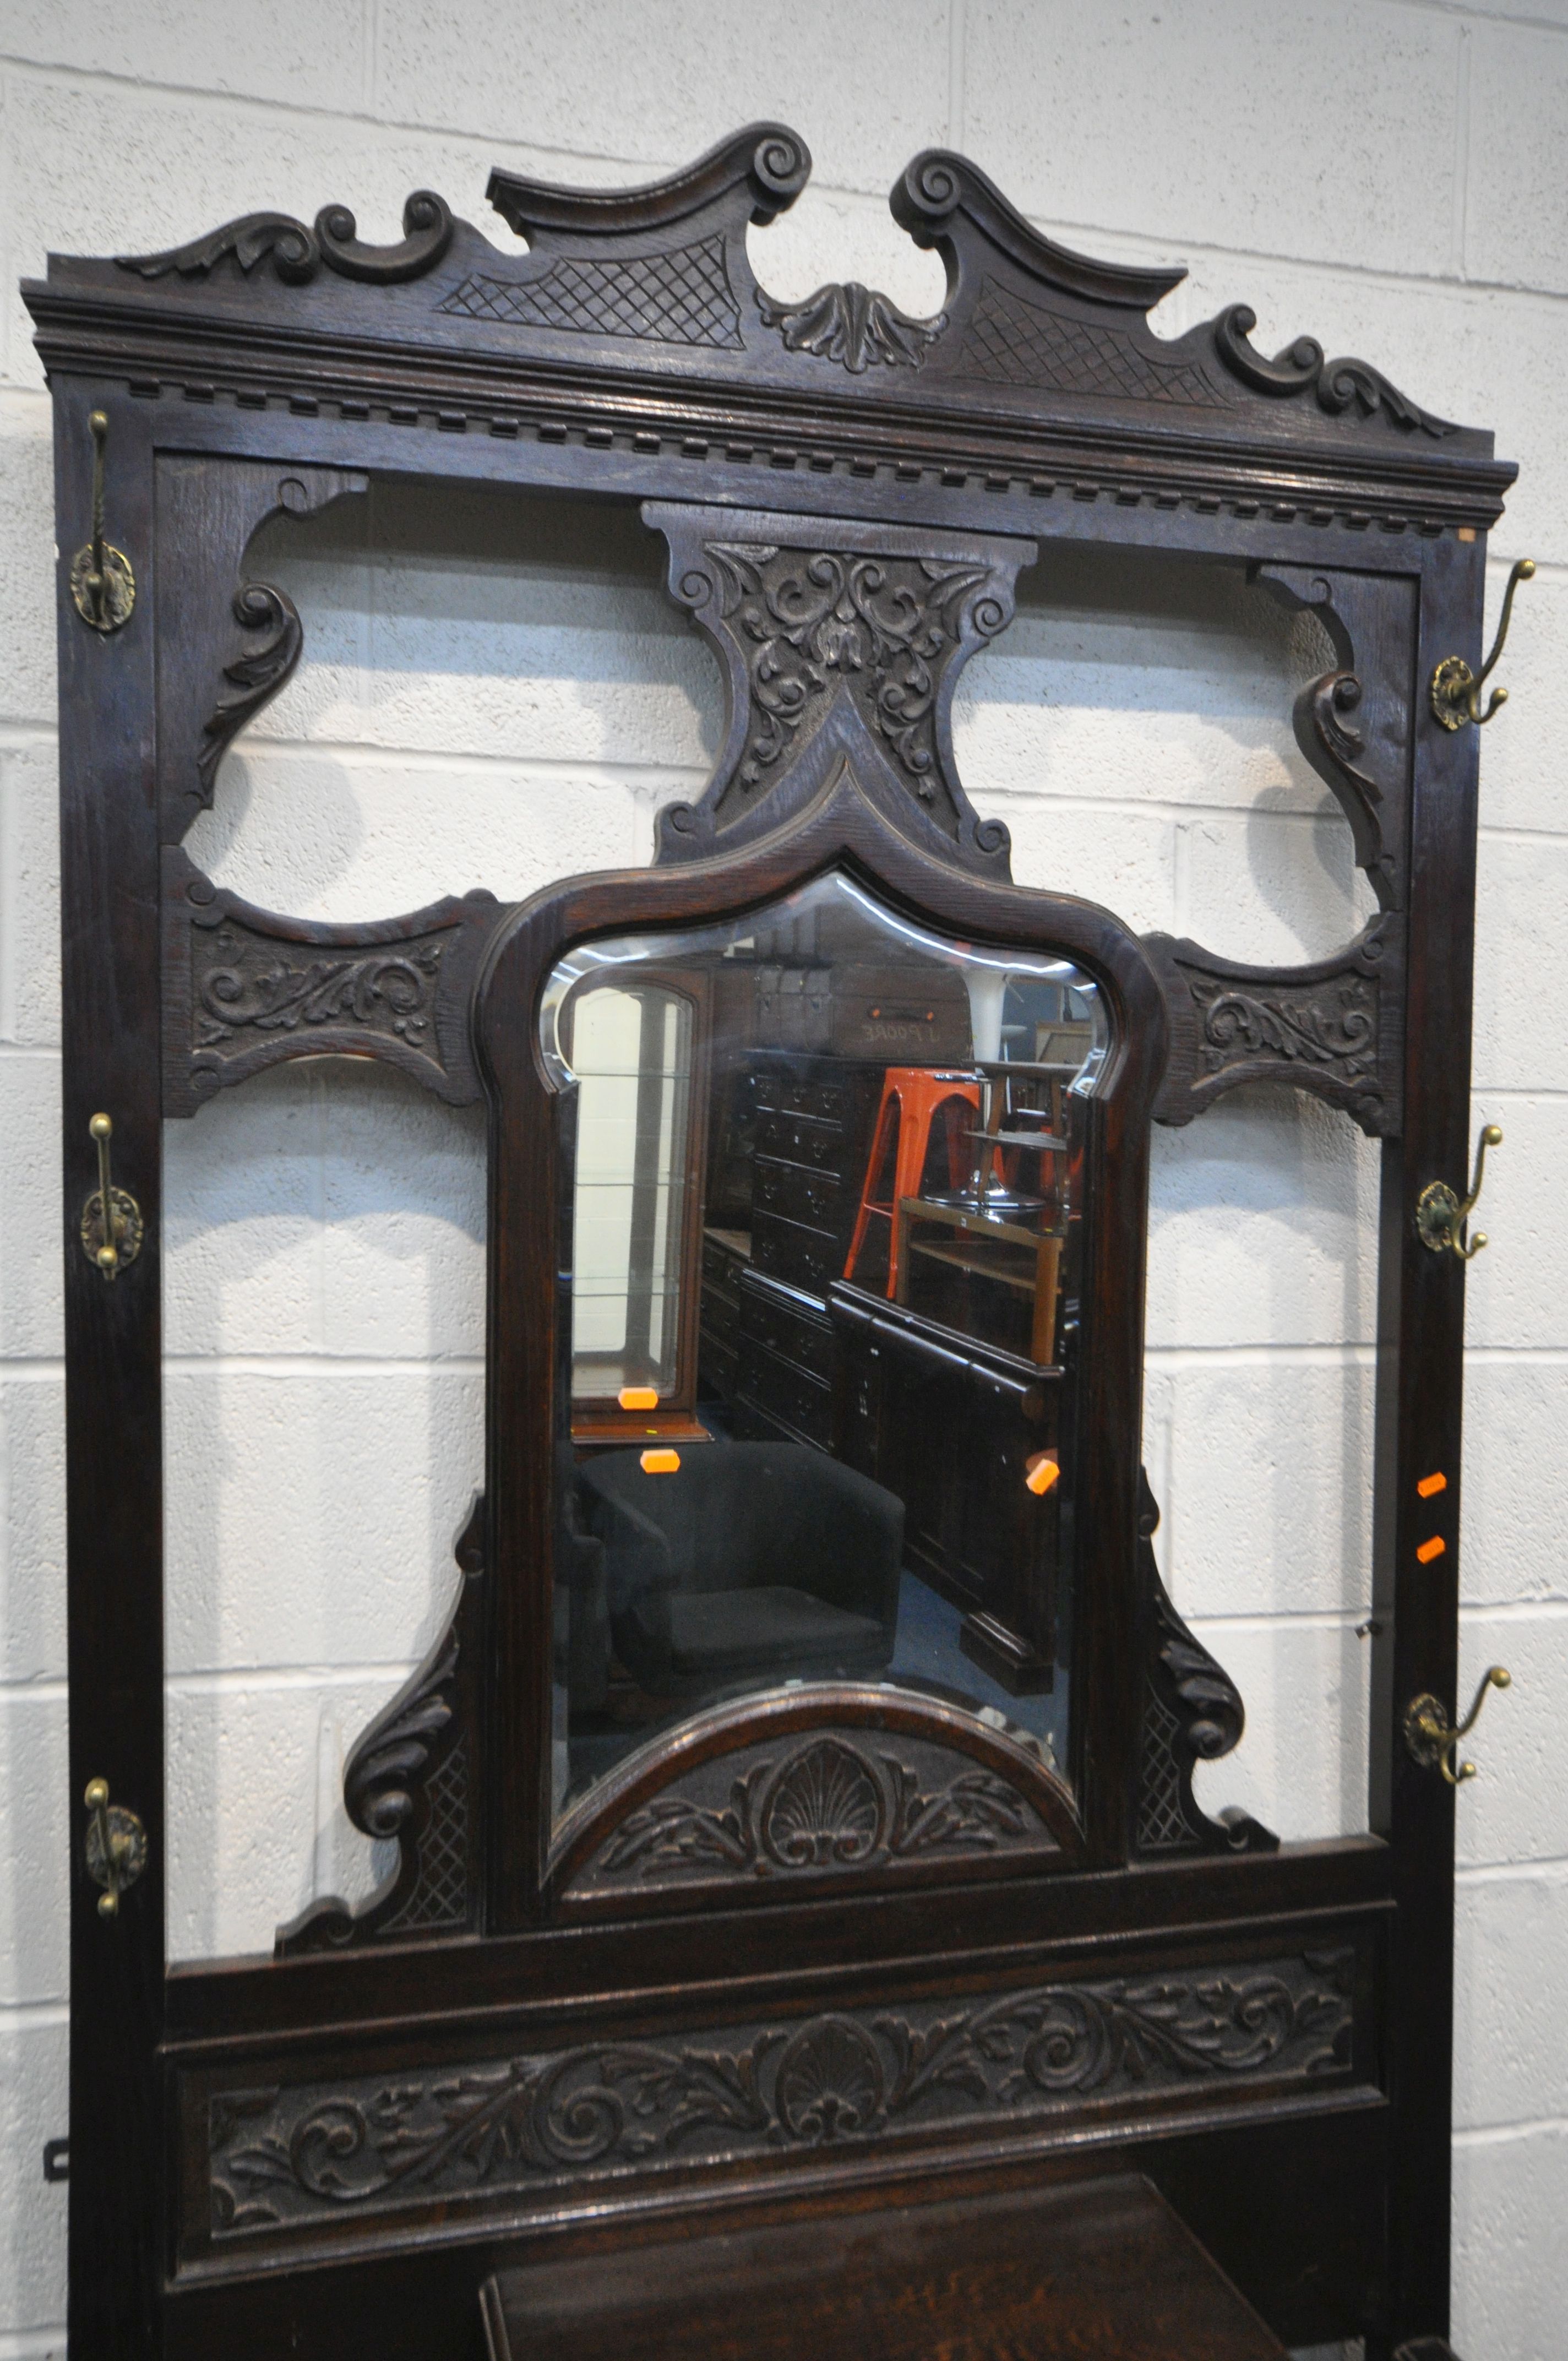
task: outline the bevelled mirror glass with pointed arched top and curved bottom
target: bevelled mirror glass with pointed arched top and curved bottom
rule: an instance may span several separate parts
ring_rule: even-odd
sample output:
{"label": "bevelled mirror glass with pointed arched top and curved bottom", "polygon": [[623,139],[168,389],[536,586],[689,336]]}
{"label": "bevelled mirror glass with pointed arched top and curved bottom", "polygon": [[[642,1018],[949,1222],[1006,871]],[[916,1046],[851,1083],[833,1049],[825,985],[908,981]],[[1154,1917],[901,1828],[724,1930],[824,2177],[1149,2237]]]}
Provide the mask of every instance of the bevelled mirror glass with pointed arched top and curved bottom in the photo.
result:
{"label": "bevelled mirror glass with pointed arched top and curved bottom", "polygon": [[845,876],[588,944],[543,1001],[571,1204],[557,1809],[801,1681],[1065,1775],[1096,985]]}

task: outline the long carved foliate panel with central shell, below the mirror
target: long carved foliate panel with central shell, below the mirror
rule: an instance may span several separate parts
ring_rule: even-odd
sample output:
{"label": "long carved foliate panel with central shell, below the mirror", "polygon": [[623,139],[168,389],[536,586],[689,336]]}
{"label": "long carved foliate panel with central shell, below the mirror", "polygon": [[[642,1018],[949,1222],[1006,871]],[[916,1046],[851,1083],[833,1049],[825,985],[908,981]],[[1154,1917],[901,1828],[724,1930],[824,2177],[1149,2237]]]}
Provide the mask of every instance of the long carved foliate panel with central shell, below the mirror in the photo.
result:
{"label": "long carved foliate panel with central shell, below the mirror", "polygon": [[1355,1945],[182,2089],[187,2255],[1341,2092]]}

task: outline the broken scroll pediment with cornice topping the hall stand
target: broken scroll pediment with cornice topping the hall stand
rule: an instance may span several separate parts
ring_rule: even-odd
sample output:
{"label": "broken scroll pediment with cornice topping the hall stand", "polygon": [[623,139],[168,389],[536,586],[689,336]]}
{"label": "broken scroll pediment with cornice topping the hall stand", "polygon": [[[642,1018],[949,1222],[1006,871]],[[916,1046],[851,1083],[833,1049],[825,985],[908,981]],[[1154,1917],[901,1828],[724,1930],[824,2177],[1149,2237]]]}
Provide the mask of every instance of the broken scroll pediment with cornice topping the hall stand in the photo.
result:
{"label": "broken scroll pediment with cornice topping the hall stand", "polygon": [[[198,399],[680,453],[704,479],[758,463],[914,467],[954,489],[1228,505],[1256,501],[1237,458],[1278,467],[1294,453],[1275,496],[1313,522],[1384,515],[1436,531],[1497,515],[1507,472],[1490,465],[1490,434],[1313,338],[1268,359],[1244,302],[1157,335],[1148,314],[1185,276],[1178,264],[1077,255],[947,149],[916,156],[890,194],[895,220],[947,264],[940,312],[914,319],[857,283],[782,302],[758,283],[746,231],[808,175],[798,132],[753,123],[642,189],[491,172],[489,198],[527,255],[418,189],[390,246],[364,241],[345,205],[314,222],[253,212],[153,255],[54,257],[28,300],[45,357],[61,361],[87,316],[111,312],[142,392],[175,380]],[[1110,467],[1108,437],[1124,444]]]}

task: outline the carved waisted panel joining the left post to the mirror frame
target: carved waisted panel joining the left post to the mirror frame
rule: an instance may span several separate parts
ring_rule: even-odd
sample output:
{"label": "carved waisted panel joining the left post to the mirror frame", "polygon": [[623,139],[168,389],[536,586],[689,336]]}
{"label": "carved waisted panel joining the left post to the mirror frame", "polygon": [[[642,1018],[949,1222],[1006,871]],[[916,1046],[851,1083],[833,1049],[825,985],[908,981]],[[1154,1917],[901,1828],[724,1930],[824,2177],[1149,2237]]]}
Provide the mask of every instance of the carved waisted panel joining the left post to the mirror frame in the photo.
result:
{"label": "carved waisted panel joining the left post to the mirror frame", "polygon": [[404,918],[283,918],[163,855],[163,1112],[283,1058],[383,1058],[451,1105],[479,1098],[468,1003],[505,904],[491,892]]}

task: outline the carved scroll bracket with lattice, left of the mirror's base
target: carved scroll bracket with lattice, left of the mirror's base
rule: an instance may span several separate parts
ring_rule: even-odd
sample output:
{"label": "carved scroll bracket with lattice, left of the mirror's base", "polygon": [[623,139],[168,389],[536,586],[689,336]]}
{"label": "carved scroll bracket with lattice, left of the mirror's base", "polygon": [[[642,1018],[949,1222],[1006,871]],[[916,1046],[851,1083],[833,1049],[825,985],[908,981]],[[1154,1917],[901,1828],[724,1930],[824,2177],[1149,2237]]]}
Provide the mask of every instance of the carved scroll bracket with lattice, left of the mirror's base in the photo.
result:
{"label": "carved scroll bracket with lattice, left of the mirror's base", "polygon": [[279,1960],[345,1950],[373,1938],[451,1936],[479,1922],[479,1603],[484,1495],[475,1495],[453,1544],[463,1589],[446,1629],[392,1702],[371,1721],[342,1771],[354,1827],[397,1842],[397,1868],[368,1901],[309,1903],[279,1927]]}

